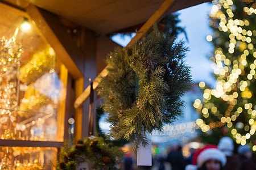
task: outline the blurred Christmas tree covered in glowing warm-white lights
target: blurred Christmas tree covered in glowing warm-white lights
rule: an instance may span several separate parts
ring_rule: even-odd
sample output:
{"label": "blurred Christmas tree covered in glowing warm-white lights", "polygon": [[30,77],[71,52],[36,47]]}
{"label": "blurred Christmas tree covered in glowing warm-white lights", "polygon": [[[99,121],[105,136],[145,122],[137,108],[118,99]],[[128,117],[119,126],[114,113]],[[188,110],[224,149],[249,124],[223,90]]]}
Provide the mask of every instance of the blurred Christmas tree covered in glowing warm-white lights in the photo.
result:
{"label": "blurred Christmas tree covered in glowing warm-white lights", "polygon": [[212,3],[209,23],[213,35],[207,40],[214,45],[210,60],[216,86],[199,83],[204,94],[203,100],[196,99],[193,104],[201,116],[196,123],[204,141],[217,143],[221,136],[229,135],[238,145],[247,143],[256,151],[256,3]]}

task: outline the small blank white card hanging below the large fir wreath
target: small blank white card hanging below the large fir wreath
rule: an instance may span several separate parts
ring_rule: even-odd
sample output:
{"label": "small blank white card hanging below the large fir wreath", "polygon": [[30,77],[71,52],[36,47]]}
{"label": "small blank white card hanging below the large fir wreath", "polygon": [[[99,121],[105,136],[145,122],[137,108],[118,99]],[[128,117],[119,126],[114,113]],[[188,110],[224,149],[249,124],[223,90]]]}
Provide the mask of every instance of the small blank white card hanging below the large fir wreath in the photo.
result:
{"label": "small blank white card hanging below the large fir wreath", "polygon": [[147,143],[147,146],[140,146],[137,151],[138,166],[152,166],[151,140],[148,139]]}

